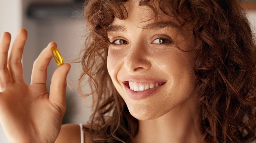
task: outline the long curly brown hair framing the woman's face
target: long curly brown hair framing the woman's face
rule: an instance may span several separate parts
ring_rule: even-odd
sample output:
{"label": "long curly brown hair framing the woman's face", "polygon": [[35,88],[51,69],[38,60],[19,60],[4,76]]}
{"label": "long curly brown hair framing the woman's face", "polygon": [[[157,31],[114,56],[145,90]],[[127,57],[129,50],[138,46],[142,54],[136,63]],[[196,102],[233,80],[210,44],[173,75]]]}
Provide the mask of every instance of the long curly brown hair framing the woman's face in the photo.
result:
{"label": "long curly brown hair framing the woman's face", "polygon": [[[106,28],[114,18],[126,19],[127,0],[89,0],[85,17],[90,29],[82,58],[81,85],[92,89],[94,112],[90,132],[94,142],[132,142],[138,120],[130,115],[107,71],[110,44]],[[167,16],[193,25],[197,45],[194,73],[202,134],[213,143],[256,139],[256,53],[245,11],[238,0],[158,0]],[[140,5],[154,8],[152,0]],[[185,10],[184,10],[185,9]]]}

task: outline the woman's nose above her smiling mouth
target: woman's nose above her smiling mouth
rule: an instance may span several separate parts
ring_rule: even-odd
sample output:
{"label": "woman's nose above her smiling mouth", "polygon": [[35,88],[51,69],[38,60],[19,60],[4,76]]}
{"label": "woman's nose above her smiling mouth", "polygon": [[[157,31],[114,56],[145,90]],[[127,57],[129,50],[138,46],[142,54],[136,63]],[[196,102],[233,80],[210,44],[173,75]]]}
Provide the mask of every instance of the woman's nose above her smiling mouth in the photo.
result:
{"label": "woman's nose above her smiling mouth", "polygon": [[124,61],[124,67],[130,72],[145,71],[151,67],[147,48],[141,44],[131,45]]}

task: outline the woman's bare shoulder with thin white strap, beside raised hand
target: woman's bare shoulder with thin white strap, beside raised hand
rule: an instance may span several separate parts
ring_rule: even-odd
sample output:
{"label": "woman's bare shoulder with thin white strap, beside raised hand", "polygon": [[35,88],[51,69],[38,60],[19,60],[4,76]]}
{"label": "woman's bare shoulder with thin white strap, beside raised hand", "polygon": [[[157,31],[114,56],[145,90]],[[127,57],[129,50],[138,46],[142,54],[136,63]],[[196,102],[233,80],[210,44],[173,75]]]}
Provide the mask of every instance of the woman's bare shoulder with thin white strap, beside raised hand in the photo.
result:
{"label": "woman's bare shoulder with thin white strap, beside raised hand", "polygon": [[[84,133],[85,143],[91,143],[89,133]],[[81,132],[78,124],[64,124],[55,143],[81,143]]]}

